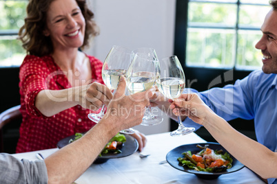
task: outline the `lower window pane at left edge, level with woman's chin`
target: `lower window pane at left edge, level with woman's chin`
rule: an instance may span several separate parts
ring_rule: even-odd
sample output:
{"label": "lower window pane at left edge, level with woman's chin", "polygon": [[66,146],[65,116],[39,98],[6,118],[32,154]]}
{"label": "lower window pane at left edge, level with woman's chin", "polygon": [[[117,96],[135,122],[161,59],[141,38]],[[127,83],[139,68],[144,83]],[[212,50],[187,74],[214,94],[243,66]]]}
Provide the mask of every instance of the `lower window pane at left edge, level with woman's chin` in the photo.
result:
{"label": "lower window pane at left edge, level with woman's chin", "polygon": [[17,36],[0,37],[0,67],[19,66],[25,55]]}

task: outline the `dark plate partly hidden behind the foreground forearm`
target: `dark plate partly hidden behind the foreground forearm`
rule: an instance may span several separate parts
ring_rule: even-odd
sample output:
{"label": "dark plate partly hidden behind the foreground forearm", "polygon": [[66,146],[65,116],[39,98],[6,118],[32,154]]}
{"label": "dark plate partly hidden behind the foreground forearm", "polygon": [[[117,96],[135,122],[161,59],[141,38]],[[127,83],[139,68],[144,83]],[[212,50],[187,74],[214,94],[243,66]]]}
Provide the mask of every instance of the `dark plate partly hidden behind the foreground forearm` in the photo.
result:
{"label": "dark plate partly hidden behind the foreground forearm", "polygon": [[[104,163],[108,159],[118,159],[121,157],[127,157],[127,156],[133,154],[134,152],[136,152],[136,150],[138,150],[138,148],[139,148],[138,141],[136,141],[136,139],[134,139],[134,137],[132,137],[130,135],[125,135],[125,137],[126,137],[126,141],[125,141],[123,147],[121,148],[121,151],[122,151],[121,153],[119,153],[119,154],[114,154],[114,153],[102,154],[102,157],[97,157],[96,160],[94,161],[94,163]],[[59,141],[57,143],[57,147],[63,148],[64,146],[67,146],[70,139],[74,139],[74,138],[75,138],[75,135],[61,139],[61,141]]]}

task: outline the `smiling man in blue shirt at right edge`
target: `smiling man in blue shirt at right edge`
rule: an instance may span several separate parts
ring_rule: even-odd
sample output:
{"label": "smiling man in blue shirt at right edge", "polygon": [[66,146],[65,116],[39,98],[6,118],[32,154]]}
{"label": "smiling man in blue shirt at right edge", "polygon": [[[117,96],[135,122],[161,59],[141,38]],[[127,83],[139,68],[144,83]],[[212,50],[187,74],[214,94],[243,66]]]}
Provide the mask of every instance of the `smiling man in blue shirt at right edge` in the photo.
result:
{"label": "smiling man in blue shirt at right edge", "polygon": [[[227,121],[238,117],[254,119],[258,142],[277,152],[277,0],[270,1],[270,4],[272,9],[260,29],[263,36],[256,43],[256,49],[263,53],[262,70],[253,71],[243,80],[237,80],[234,85],[201,93],[186,89],[184,93],[197,93],[212,111]],[[167,109],[164,108],[168,105],[165,102],[159,101],[156,104],[163,110]],[[185,116],[182,119],[185,126],[196,129],[201,126]],[[267,181],[277,183],[276,179]]]}

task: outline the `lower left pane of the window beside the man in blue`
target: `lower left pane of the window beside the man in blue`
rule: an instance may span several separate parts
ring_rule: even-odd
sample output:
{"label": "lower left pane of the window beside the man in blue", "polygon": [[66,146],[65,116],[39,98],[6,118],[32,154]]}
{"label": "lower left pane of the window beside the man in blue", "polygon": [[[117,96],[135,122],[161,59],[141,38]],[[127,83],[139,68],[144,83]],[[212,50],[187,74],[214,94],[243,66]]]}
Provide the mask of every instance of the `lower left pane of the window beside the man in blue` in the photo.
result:
{"label": "lower left pane of the window beside the man in blue", "polygon": [[233,67],[234,38],[234,30],[188,29],[187,65]]}

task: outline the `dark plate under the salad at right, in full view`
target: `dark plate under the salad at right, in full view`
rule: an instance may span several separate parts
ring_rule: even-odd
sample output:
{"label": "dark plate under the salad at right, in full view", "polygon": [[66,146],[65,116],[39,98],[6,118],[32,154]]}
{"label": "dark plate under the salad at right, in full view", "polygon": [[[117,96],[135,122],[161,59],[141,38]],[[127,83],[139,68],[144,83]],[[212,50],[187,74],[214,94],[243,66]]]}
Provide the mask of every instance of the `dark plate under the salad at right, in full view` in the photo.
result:
{"label": "dark plate under the salad at right, in full view", "polygon": [[232,162],[232,168],[227,169],[224,172],[203,172],[203,171],[196,171],[189,169],[187,167],[183,167],[182,165],[179,165],[178,157],[183,157],[183,152],[185,151],[191,151],[192,154],[195,154],[196,152],[201,151],[200,148],[197,148],[196,145],[199,144],[201,146],[205,146],[205,144],[209,144],[209,148],[212,150],[223,150],[223,152],[227,152],[223,146],[221,146],[219,143],[213,143],[213,142],[207,142],[207,143],[192,143],[192,144],[185,144],[183,146],[178,146],[177,148],[174,148],[166,155],[166,160],[173,168],[176,168],[177,170],[181,170],[184,172],[189,172],[192,174],[196,174],[201,179],[217,179],[218,176],[221,174],[228,174],[231,172],[236,172],[240,169],[242,169],[245,165],[243,163],[240,163],[237,159],[235,159],[231,154],[230,157],[233,159]]}

